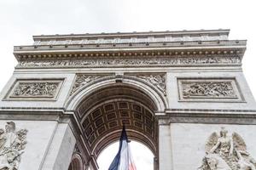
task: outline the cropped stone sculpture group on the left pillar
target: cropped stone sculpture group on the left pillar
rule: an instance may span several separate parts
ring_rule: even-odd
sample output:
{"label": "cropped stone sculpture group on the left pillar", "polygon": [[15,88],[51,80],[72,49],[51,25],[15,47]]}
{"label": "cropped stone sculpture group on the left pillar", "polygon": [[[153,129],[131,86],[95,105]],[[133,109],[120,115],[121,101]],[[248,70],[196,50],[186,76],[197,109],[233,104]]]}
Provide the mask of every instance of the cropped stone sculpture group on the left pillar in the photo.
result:
{"label": "cropped stone sculpture group on the left pillar", "polygon": [[26,148],[26,129],[16,130],[15,122],[0,128],[0,170],[18,170]]}

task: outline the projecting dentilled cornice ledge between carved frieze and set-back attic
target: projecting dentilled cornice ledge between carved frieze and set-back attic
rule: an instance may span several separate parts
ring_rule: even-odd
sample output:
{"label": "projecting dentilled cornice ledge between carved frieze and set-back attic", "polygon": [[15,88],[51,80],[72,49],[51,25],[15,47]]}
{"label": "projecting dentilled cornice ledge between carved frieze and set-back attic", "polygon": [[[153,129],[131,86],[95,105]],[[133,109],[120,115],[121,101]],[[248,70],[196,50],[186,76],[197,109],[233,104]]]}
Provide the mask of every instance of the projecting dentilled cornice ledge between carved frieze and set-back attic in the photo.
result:
{"label": "projecting dentilled cornice ledge between carved frieze and set-back attic", "polygon": [[30,59],[89,59],[104,57],[191,57],[214,55],[242,56],[246,49],[246,41],[214,41],[214,42],[166,42],[166,43],[124,43],[124,44],[71,44],[15,46],[17,60]]}

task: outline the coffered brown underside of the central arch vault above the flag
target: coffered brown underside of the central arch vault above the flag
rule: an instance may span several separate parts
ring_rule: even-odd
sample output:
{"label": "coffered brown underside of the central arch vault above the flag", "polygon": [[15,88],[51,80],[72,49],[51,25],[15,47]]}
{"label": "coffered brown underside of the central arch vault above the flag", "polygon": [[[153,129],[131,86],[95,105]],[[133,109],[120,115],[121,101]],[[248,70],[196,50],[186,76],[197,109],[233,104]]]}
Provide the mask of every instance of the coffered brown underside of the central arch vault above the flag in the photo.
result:
{"label": "coffered brown underside of the central arch vault above the flag", "polygon": [[[128,138],[146,145],[157,160],[158,121],[154,113],[159,112],[159,106],[164,104],[156,104],[156,99],[152,99],[143,90],[147,88],[156,92],[151,87],[148,88],[148,84],[144,83],[143,88],[138,88],[132,81],[136,82],[129,79],[123,79],[122,82],[116,82],[114,78],[108,79],[107,84],[93,90],[84,90],[86,96],[77,99],[79,104],[74,113],[83,132],[86,148],[95,160],[109,144],[119,140],[123,125]],[[76,95],[82,96],[81,93],[83,91]]]}

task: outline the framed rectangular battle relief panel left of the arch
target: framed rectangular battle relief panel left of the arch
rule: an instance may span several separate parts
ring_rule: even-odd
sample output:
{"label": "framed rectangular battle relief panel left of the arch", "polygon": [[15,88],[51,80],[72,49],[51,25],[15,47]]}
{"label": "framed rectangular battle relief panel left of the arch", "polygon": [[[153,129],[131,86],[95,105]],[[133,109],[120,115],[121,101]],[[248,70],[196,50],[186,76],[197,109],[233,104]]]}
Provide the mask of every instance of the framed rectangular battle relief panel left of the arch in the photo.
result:
{"label": "framed rectangular battle relief panel left of the arch", "polygon": [[61,80],[17,80],[7,99],[55,99]]}

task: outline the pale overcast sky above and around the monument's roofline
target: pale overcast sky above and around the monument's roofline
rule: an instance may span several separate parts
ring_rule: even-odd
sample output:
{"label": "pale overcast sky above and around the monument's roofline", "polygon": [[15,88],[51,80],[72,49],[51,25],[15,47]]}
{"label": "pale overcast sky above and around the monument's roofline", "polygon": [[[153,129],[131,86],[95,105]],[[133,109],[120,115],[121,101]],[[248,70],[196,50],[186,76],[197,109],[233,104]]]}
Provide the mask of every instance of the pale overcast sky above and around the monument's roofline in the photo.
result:
{"label": "pale overcast sky above and around the monument's roofline", "polygon": [[2,89],[17,64],[14,45],[32,35],[117,31],[230,29],[247,39],[243,71],[256,95],[254,0],[0,0]]}

